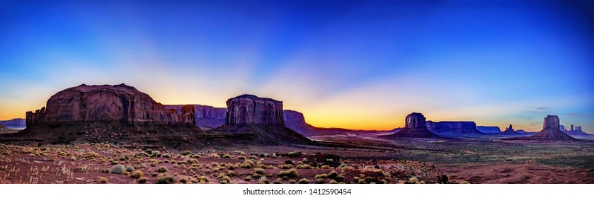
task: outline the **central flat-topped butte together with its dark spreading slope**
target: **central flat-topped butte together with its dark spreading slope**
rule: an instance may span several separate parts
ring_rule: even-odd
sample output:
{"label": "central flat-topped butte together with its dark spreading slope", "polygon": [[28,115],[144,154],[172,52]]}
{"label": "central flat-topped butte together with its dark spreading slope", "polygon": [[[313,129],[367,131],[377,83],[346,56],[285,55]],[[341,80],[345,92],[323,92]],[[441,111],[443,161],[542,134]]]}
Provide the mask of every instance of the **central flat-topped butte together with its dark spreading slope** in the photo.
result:
{"label": "central flat-topped butte together with its dark spreading slope", "polygon": [[[256,95],[239,95],[227,100],[225,124],[212,133],[234,136],[239,144],[303,144],[301,134],[285,127],[282,102]],[[243,140],[243,141],[241,141]]]}

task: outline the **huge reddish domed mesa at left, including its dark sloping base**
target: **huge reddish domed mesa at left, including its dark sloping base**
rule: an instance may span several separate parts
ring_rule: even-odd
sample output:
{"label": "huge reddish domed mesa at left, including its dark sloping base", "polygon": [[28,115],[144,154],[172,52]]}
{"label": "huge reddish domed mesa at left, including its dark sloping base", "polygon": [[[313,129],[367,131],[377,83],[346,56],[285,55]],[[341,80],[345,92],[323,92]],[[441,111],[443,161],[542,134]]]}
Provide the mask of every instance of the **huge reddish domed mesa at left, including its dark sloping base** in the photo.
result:
{"label": "huge reddish domed mesa at left, including its dark sloping base", "polygon": [[2,139],[44,143],[140,142],[200,147],[208,140],[202,137],[205,134],[198,127],[193,126],[194,115],[192,105],[181,107],[180,115],[176,110],[167,110],[146,93],[125,84],[83,84],[52,95],[47,100],[47,107],[26,113],[26,129]]}

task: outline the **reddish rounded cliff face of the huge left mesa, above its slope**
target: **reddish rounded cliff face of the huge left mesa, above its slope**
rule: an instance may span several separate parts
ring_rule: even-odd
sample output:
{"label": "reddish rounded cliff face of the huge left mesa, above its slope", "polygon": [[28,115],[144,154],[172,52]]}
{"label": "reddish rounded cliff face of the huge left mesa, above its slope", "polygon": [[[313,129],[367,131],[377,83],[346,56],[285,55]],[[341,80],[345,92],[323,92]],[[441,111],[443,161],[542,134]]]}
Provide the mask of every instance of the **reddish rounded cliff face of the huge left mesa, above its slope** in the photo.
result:
{"label": "reddish rounded cliff face of the huge left mesa, above its slope", "polygon": [[146,93],[120,84],[67,88],[52,95],[47,107],[26,113],[27,126],[35,123],[121,121],[178,123],[175,110],[166,110]]}

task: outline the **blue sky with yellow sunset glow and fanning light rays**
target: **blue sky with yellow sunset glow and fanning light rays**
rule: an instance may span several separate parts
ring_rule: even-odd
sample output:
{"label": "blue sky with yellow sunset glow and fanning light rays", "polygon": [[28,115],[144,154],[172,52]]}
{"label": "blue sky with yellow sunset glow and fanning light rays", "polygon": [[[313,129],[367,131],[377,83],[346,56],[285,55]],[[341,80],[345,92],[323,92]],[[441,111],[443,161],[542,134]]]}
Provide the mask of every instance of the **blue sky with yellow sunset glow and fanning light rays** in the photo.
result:
{"label": "blue sky with yellow sunset glow and fanning light rays", "polygon": [[159,103],[282,100],[316,127],[547,115],[594,133],[587,1],[0,1],[0,120],[65,88]]}

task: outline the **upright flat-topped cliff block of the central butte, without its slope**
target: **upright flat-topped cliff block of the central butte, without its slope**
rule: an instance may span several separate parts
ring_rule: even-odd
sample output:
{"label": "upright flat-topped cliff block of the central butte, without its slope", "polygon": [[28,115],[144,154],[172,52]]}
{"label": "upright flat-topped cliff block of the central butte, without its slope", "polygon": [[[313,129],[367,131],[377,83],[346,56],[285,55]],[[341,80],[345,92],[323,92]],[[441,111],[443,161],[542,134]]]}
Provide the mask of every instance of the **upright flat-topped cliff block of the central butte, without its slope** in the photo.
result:
{"label": "upright flat-topped cliff block of the central butte, without its slope", "polygon": [[239,95],[227,100],[225,124],[230,126],[264,124],[285,125],[282,102],[256,95]]}

